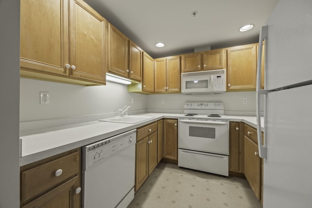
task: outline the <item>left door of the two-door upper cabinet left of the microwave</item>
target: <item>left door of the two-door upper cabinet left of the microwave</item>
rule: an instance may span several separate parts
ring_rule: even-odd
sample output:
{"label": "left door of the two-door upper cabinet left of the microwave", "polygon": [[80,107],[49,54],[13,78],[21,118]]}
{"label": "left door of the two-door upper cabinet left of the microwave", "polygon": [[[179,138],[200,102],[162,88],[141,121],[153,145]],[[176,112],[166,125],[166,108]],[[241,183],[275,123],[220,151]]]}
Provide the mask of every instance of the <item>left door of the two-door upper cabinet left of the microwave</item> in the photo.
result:
{"label": "left door of the two-door upper cabinet left of the microwave", "polygon": [[165,93],[167,91],[167,59],[156,58],[154,60],[154,75],[155,75],[155,93]]}

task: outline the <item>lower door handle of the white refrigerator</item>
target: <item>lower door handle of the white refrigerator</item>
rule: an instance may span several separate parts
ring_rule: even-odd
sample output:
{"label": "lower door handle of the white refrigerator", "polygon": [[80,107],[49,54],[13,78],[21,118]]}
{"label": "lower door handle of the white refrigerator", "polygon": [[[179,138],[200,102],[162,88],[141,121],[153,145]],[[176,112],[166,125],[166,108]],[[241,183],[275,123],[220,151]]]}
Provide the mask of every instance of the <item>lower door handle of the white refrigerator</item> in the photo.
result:
{"label": "lower door handle of the white refrigerator", "polygon": [[[257,115],[257,139],[258,139],[258,151],[259,151],[259,157],[267,159],[267,147],[266,145],[266,116],[264,114],[264,138],[263,138],[263,144],[262,145],[262,136],[261,136],[261,116],[260,116],[260,96],[264,95],[264,103],[266,103],[266,96],[269,92],[263,91],[263,92],[256,92],[256,115]],[[264,107],[265,112],[265,107]]]}

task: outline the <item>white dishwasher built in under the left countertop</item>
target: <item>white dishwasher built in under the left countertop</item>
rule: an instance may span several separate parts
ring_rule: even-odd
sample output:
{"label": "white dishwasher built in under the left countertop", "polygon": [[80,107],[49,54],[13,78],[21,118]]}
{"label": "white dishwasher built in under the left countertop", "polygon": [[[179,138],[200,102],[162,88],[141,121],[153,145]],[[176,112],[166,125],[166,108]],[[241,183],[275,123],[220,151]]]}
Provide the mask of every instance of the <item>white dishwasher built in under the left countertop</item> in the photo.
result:
{"label": "white dishwasher built in under the left countertop", "polygon": [[82,207],[126,208],[134,198],[137,130],[82,148]]}

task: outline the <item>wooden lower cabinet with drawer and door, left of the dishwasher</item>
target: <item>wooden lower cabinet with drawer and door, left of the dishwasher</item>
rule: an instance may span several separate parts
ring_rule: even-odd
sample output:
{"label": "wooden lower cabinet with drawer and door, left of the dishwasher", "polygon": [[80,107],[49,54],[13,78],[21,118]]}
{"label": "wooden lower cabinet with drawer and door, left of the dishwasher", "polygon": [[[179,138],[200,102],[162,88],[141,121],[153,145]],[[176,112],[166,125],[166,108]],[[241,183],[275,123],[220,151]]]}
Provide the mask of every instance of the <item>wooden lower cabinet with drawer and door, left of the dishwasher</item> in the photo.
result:
{"label": "wooden lower cabinet with drawer and door, left of the dishwasher", "polygon": [[80,154],[78,148],[21,167],[20,207],[80,208]]}

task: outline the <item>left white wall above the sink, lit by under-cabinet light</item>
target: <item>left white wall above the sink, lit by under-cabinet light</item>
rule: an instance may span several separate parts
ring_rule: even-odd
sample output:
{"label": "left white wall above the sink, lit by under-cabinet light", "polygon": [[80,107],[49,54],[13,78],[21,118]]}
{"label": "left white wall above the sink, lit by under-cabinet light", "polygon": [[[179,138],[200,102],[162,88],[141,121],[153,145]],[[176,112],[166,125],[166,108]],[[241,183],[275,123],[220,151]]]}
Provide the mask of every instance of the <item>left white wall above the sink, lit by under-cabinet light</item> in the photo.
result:
{"label": "left white wall above the sink, lit by under-cabinet light", "polygon": [[[49,92],[50,104],[39,104],[39,92]],[[131,103],[134,98],[134,104]],[[20,121],[118,112],[131,105],[130,113],[147,109],[147,96],[128,93],[127,85],[107,82],[81,86],[20,78]]]}

